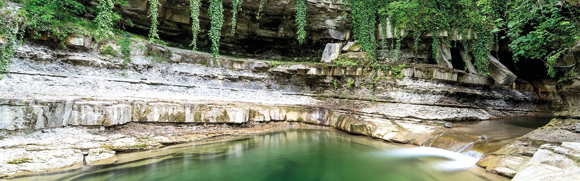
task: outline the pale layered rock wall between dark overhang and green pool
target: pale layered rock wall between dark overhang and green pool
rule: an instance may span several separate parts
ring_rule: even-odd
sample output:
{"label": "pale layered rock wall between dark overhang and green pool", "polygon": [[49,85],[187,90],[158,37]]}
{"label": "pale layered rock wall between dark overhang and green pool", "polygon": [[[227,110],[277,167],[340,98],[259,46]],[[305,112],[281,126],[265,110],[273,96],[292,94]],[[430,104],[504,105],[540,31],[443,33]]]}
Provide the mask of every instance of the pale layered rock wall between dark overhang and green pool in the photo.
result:
{"label": "pale layered rock wall between dark overhang and green pool", "polygon": [[135,50],[125,66],[84,46],[23,45],[0,80],[0,177],[107,164],[113,151],[281,126],[329,126],[420,145],[452,121],[542,110],[525,82],[506,88],[485,77],[461,81],[461,71],[437,66],[413,64],[402,79],[387,72],[372,82],[368,67],[231,57],[216,67],[208,53],[144,46],[170,60],[155,63]]}

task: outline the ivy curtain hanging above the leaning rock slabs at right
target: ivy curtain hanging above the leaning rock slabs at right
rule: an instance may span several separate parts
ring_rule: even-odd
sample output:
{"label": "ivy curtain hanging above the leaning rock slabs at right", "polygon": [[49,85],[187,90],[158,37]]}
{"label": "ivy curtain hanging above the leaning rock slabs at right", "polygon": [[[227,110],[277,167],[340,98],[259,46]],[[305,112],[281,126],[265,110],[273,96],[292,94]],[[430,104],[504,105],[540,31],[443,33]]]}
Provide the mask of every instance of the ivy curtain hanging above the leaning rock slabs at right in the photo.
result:
{"label": "ivy curtain hanging above the leaning rock slabs at right", "polygon": [[[404,0],[390,1],[379,10],[380,19],[390,20],[390,34],[399,36],[400,32],[404,34],[411,33],[415,39],[415,49],[420,34],[431,32],[433,36],[432,49],[433,57],[438,60],[437,49],[442,41],[448,42],[447,38],[440,37],[439,32],[456,31],[462,35],[462,44],[472,51],[475,66],[481,73],[487,73],[488,54],[491,46],[494,44],[495,30],[494,21],[491,19],[492,13],[485,12],[481,8],[489,8],[498,5],[499,1],[472,1],[472,0]],[[384,34],[386,32],[386,23],[381,23]],[[452,29],[453,28],[453,29]],[[477,34],[477,38],[472,37]],[[403,36],[404,37],[404,36]],[[397,41],[395,49],[400,47],[400,39]],[[471,39],[470,39],[471,38]],[[470,39],[470,40],[468,40]],[[398,56],[398,52],[396,55]]]}

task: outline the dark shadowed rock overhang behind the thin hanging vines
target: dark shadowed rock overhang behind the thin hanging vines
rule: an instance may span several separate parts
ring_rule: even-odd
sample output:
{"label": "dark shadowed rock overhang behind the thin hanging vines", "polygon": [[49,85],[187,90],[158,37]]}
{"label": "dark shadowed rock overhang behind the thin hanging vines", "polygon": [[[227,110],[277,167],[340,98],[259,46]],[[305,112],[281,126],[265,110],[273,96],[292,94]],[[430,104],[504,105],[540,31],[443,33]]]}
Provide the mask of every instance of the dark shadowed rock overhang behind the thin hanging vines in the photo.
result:
{"label": "dark shadowed rock overhang behind the thin hanging vines", "polygon": [[[244,1],[238,12],[235,34],[231,32],[231,1],[223,1],[224,26],[222,28],[222,51],[254,53],[276,49],[282,54],[312,53],[328,42],[342,42],[350,38],[351,20],[349,9],[340,0],[306,1],[306,41],[300,46],[296,41],[295,6],[296,1],[265,1],[260,19],[257,19],[259,0]],[[208,46],[209,30],[207,1],[200,10],[201,32],[198,44]],[[149,4],[146,0],[129,0],[129,6],[118,9],[121,14],[133,20],[135,27],[128,31],[147,34],[151,25],[148,16]],[[189,1],[162,0],[158,8],[160,35],[162,38],[189,44],[191,41],[191,20]],[[310,50],[308,50],[310,49]]]}

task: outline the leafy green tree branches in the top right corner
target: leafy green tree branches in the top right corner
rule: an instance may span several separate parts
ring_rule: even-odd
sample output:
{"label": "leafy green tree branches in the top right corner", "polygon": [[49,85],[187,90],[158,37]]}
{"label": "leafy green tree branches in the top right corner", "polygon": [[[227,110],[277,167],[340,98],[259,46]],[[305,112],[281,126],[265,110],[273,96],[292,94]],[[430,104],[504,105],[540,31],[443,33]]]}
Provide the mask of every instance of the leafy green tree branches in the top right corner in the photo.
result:
{"label": "leafy green tree branches in the top right corner", "polygon": [[578,44],[580,12],[574,1],[513,0],[507,3],[507,7],[505,23],[509,28],[507,37],[511,41],[509,47],[514,60],[517,61],[518,57],[549,59],[556,55],[554,51],[561,52]]}

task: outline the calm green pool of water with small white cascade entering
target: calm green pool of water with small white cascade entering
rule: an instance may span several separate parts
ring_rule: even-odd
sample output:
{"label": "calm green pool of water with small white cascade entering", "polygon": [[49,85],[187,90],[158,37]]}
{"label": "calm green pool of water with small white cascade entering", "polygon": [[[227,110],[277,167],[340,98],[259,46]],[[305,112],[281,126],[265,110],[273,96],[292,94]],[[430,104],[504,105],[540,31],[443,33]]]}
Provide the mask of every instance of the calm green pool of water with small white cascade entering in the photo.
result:
{"label": "calm green pool of water with small white cascade entering", "polygon": [[116,164],[16,180],[508,180],[451,151],[290,129],[118,154]]}

